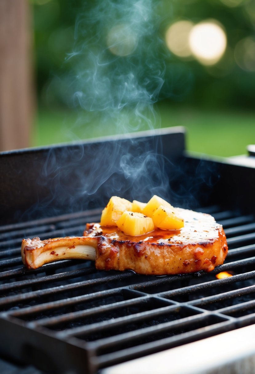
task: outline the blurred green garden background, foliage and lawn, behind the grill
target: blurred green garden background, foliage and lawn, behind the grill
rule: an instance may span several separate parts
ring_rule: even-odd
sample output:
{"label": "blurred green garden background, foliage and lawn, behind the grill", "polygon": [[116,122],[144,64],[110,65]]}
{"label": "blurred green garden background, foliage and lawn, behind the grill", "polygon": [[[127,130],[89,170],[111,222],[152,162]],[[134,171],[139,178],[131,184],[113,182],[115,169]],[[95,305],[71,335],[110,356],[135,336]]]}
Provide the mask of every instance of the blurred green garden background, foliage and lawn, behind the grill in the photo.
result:
{"label": "blurred green garden background, foliage and lawn, behind the grill", "polygon": [[[32,145],[176,125],[202,153],[232,156],[255,143],[255,0],[30,2]],[[170,26],[206,20],[227,38],[218,61],[171,50]]]}

